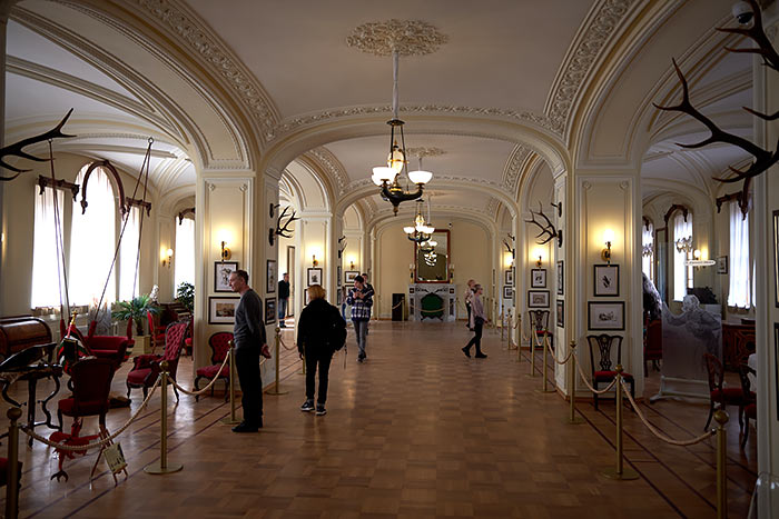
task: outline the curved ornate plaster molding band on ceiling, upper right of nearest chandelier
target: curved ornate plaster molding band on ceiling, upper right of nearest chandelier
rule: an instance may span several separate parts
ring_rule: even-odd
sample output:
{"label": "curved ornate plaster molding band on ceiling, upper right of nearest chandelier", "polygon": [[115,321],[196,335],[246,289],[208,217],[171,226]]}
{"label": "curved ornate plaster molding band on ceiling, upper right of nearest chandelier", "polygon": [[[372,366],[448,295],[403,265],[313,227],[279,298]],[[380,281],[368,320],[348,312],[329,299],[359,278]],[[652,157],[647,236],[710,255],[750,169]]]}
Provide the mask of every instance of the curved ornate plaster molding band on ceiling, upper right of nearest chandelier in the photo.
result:
{"label": "curved ornate plaster molding band on ceiling, upper right of nearest chandelier", "polygon": [[569,128],[571,111],[584,79],[635,1],[599,0],[590,11],[589,22],[579,31],[558,72],[544,110],[559,137],[563,137]]}

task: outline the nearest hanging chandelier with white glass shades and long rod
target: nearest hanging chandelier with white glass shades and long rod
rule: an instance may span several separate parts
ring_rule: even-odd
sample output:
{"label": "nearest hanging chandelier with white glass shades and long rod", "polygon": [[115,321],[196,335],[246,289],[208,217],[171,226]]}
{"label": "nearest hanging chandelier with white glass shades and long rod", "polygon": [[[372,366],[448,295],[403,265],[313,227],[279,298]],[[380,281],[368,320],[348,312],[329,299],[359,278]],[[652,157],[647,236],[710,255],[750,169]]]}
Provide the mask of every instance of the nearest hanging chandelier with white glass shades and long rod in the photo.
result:
{"label": "nearest hanging chandelier with white glass shades and long rod", "polygon": [[[400,62],[400,53],[397,49],[392,52],[393,62],[393,94],[392,94],[392,111],[393,118],[387,121],[389,124],[389,154],[387,156],[386,166],[377,166],[373,168],[373,182],[382,188],[382,197],[389,201],[393,206],[393,212],[397,214],[397,206],[406,200],[416,200],[422,197],[423,186],[433,178],[430,171],[418,169],[408,171],[408,161],[406,160],[406,142],[403,134],[404,122],[398,118],[398,98],[397,98],[397,69]],[[395,133],[397,129],[397,134]],[[397,143],[397,137],[401,138],[401,143]],[[421,166],[421,162],[420,162]],[[406,178],[416,184],[416,191],[404,190],[398,182],[398,176],[405,172]]]}

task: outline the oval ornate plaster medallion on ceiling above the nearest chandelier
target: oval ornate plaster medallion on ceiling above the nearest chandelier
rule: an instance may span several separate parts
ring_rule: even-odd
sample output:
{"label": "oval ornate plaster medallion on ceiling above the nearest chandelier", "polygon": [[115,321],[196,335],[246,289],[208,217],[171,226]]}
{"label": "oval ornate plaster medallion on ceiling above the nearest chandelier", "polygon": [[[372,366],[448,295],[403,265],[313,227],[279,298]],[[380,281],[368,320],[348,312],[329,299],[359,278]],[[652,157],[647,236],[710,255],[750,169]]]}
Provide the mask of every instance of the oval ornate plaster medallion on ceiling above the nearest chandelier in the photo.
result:
{"label": "oval ornate plaster medallion on ceiling above the nearest chandelier", "polygon": [[346,44],[374,56],[424,56],[438,50],[448,37],[435,26],[422,20],[397,20],[368,22],[357,26]]}

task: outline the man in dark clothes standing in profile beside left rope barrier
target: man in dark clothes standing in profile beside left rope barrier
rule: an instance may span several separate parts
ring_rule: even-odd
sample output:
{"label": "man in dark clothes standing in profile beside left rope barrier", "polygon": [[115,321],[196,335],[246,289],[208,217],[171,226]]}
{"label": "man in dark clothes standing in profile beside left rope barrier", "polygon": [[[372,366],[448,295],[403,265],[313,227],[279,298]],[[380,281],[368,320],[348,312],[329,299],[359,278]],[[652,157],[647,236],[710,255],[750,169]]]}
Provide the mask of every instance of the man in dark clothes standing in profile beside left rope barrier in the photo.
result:
{"label": "man in dark clothes standing in profile beside left rope barrier", "polygon": [[249,287],[249,275],[246,270],[231,272],[229,283],[234,292],[240,293],[240,301],[235,309],[233,341],[244,407],[244,421],[235,426],[233,432],[257,432],[263,427],[263,379],[259,373],[259,356],[270,358],[265,338],[263,300]]}

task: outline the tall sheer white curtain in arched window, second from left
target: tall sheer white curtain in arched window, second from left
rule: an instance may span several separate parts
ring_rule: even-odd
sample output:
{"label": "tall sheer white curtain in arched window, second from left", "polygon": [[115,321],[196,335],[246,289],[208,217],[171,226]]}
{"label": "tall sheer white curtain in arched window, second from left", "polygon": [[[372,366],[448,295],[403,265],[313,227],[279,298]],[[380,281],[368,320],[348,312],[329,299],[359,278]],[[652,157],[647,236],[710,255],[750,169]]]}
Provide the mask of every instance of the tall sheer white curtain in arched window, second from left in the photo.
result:
{"label": "tall sheer white curtain in arched window, second from left", "polygon": [[[85,166],[76,179],[83,186]],[[97,305],[106,283],[116,247],[116,200],[114,188],[102,168],[89,177],[89,207],[72,204],[70,232],[70,300],[73,305]],[[111,271],[103,302],[116,301],[116,270]]]}

